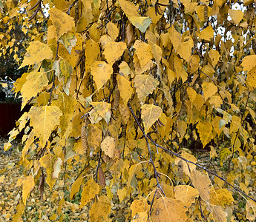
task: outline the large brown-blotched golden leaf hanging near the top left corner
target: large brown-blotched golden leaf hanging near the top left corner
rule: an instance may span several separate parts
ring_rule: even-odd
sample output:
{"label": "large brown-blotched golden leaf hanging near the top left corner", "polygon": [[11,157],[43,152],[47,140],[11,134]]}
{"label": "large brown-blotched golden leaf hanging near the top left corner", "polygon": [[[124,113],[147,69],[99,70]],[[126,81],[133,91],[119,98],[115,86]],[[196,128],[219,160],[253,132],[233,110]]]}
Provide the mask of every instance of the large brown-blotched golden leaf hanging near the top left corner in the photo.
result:
{"label": "large brown-blotched golden leaf hanging near the top left corner", "polygon": [[53,26],[56,29],[56,40],[58,40],[64,33],[68,33],[74,26],[75,22],[72,17],[67,13],[63,13],[62,10],[58,10],[53,7],[49,10],[50,20],[53,22]]}

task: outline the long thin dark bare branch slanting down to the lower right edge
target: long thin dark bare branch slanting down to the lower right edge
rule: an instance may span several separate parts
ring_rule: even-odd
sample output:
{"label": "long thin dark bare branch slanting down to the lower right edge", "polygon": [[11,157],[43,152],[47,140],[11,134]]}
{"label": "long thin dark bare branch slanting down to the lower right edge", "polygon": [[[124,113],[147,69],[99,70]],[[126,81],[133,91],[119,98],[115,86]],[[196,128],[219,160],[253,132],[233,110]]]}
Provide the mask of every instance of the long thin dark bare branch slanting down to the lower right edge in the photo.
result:
{"label": "long thin dark bare branch slanting down to the lower right edge", "polygon": [[[200,164],[196,164],[196,163],[194,163],[194,162],[192,162],[192,161],[188,161],[186,158],[183,158],[181,155],[177,154],[176,152],[172,152],[171,150],[166,149],[165,147],[162,147],[162,146],[160,146],[159,144],[157,144],[157,142],[154,141],[154,140],[151,138],[150,135],[145,134],[145,131],[144,131],[144,129],[142,128],[142,126],[140,125],[140,122],[138,121],[136,115],[134,114],[134,110],[132,110],[131,105],[130,105],[129,102],[128,102],[128,107],[129,107],[129,109],[131,110],[131,114],[134,116],[134,119],[135,119],[135,121],[137,122],[138,126],[139,126],[140,129],[142,130],[142,133],[143,133],[143,135],[145,136],[145,138],[148,138],[156,147],[159,147],[159,148],[165,150],[165,152],[169,152],[171,155],[175,155],[177,158],[180,158],[181,160],[185,161],[186,164],[193,164],[194,166],[197,166],[198,168],[203,169],[203,170],[205,170],[206,172],[209,172],[211,175],[214,175],[215,177],[220,178],[221,181],[224,181],[226,184],[229,184],[229,186],[232,186],[232,188],[233,188],[234,190],[236,190],[237,192],[240,192],[241,194],[245,195],[247,198],[250,198],[252,201],[255,201],[255,203],[256,203],[256,199],[255,199],[255,198],[252,198],[252,197],[250,197],[249,195],[246,195],[245,192],[243,192],[242,190],[240,190],[240,189],[238,189],[237,187],[235,187],[235,186],[233,186],[232,184],[230,184],[228,181],[226,181],[226,179],[224,179],[224,178],[221,177],[220,175],[217,175],[217,173],[211,172],[211,170],[207,169],[205,166],[201,166]],[[147,141],[147,139],[146,139],[146,141]],[[149,150],[150,150],[150,149],[149,149]],[[151,152],[150,152],[150,154],[151,154]],[[151,161],[151,163],[153,163],[153,161]],[[158,186],[158,184],[157,184],[157,186]],[[162,189],[161,189],[161,190],[162,190]]]}

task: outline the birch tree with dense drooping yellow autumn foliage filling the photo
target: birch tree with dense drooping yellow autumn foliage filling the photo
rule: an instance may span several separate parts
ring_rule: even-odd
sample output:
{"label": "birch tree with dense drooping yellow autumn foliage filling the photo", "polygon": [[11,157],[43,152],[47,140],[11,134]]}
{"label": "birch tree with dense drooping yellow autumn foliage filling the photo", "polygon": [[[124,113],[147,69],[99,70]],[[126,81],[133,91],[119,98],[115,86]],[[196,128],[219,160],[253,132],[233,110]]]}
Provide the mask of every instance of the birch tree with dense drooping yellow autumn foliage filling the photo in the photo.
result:
{"label": "birch tree with dense drooping yellow autumn foliage filling the photo", "polygon": [[14,221],[36,187],[52,220],[255,221],[255,1],[1,4],[30,33]]}

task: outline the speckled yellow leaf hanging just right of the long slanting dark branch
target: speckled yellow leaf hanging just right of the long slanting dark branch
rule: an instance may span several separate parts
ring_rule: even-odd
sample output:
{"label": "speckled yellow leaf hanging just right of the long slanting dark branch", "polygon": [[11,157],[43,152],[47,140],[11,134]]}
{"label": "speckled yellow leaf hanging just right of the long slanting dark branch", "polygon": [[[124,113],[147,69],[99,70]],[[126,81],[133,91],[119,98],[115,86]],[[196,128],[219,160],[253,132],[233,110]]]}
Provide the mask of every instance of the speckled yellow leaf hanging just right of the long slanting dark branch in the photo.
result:
{"label": "speckled yellow leaf hanging just right of the long slanting dark branch", "polygon": [[163,110],[160,107],[154,106],[153,104],[142,105],[141,117],[143,126],[145,128],[145,133],[148,133],[150,127],[154,124],[155,121],[157,121],[158,118],[160,118],[162,112]]}

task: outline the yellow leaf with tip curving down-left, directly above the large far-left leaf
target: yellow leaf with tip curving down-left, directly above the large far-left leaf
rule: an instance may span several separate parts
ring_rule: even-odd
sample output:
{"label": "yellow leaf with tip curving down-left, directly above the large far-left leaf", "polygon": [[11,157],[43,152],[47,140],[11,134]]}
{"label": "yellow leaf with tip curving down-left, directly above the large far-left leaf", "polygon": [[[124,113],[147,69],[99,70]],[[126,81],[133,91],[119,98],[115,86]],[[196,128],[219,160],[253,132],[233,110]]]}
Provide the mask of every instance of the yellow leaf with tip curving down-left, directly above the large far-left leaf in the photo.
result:
{"label": "yellow leaf with tip curving down-left, directly above the large far-left leaf", "polygon": [[48,84],[46,73],[31,72],[27,75],[27,81],[22,86],[22,109],[30,98],[41,92]]}

